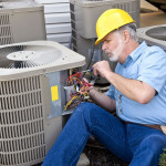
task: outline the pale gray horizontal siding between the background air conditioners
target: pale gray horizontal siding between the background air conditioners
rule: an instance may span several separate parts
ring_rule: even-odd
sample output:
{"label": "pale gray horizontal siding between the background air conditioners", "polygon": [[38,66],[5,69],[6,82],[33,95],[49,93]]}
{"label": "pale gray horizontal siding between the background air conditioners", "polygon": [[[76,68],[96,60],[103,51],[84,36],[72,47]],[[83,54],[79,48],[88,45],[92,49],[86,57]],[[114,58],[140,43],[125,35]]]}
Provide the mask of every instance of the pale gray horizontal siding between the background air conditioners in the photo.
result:
{"label": "pale gray horizontal siding between the background air conditioners", "polygon": [[65,46],[71,40],[70,0],[34,0],[44,6],[46,39]]}

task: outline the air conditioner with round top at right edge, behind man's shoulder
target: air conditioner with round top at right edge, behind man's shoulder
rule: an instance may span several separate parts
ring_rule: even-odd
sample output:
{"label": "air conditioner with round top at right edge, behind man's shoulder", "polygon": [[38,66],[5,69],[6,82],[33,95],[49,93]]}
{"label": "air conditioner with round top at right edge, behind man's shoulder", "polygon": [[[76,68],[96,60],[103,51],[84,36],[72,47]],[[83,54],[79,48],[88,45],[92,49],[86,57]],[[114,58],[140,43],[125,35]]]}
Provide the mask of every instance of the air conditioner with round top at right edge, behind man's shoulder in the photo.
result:
{"label": "air conditioner with round top at right edge, behind man's shoulder", "polygon": [[166,24],[137,29],[139,40],[145,40],[149,45],[158,45],[166,51]]}

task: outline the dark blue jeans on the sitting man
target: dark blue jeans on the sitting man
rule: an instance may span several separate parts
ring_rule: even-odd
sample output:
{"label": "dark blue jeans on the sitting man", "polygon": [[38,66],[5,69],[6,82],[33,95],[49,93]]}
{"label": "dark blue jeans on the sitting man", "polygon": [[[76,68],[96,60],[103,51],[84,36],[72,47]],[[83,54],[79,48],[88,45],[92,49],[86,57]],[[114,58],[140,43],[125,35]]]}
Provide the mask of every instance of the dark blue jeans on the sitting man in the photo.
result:
{"label": "dark blue jeans on the sitting man", "polygon": [[75,166],[87,138],[95,138],[129,166],[157,166],[166,136],[138,124],[124,124],[92,103],[80,104],[71,115],[42,166]]}

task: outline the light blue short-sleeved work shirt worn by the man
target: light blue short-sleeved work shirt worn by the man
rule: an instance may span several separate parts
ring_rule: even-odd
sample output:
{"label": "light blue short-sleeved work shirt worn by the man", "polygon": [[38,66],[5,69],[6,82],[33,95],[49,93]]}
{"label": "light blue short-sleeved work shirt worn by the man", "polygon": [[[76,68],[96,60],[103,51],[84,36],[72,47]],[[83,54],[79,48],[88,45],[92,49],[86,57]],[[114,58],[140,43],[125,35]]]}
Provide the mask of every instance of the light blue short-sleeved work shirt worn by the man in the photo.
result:
{"label": "light blue short-sleeved work shirt worn by the man", "polygon": [[118,117],[139,124],[166,125],[166,52],[159,46],[148,46],[142,42],[125,63],[117,63],[115,73],[145,82],[156,90],[149,103],[141,104],[111,85],[106,95],[116,101]]}

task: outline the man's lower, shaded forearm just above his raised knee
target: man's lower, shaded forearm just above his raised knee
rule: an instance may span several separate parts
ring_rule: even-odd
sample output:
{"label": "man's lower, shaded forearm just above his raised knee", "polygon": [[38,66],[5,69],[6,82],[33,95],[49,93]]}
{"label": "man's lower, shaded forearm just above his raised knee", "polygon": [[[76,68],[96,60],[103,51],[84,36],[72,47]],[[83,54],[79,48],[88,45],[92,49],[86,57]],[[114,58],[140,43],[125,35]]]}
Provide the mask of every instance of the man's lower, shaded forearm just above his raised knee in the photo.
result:
{"label": "man's lower, shaded forearm just above his raised knee", "polygon": [[97,92],[94,89],[92,89],[89,94],[91,98],[104,110],[112,113],[116,108],[115,101],[108,97],[106,94]]}

